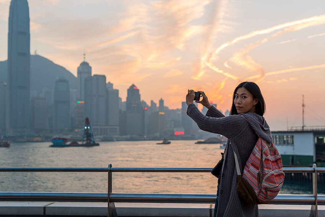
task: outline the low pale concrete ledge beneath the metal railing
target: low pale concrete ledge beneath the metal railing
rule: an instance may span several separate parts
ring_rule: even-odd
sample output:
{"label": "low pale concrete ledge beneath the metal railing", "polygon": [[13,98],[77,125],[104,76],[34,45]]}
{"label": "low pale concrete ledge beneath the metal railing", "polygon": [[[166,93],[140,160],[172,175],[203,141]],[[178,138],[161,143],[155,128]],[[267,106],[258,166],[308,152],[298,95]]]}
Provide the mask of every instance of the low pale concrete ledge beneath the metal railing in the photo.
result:
{"label": "low pale concrete ledge beneath the metal railing", "polygon": [[[211,217],[214,204],[115,203],[118,216]],[[259,205],[260,217],[305,217],[310,205]],[[107,216],[107,203],[94,202],[0,202],[0,216]],[[318,206],[325,217],[325,205]]]}

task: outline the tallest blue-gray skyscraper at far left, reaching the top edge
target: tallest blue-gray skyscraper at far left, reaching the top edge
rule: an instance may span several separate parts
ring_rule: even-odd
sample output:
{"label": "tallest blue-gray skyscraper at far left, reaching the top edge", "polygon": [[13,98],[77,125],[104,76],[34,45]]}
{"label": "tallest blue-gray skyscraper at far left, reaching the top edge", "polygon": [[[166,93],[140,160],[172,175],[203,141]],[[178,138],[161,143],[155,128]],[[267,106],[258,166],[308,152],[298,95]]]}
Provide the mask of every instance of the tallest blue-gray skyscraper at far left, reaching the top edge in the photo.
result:
{"label": "tallest blue-gray skyscraper at far left, reaching the top edge", "polygon": [[10,2],[7,68],[11,133],[26,133],[30,129],[30,34],[27,0]]}

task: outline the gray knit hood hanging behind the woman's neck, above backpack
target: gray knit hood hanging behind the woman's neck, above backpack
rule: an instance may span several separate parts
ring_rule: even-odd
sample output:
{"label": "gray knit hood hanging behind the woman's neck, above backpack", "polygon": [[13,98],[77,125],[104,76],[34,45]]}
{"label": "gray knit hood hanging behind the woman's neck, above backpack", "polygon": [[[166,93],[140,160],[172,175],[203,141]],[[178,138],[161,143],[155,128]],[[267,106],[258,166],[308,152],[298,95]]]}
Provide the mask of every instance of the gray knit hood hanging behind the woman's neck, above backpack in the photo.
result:
{"label": "gray knit hood hanging behind the woman's neck, above backpack", "polygon": [[240,114],[246,118],[248,124],[253,128],[256,134],[266,142],[272,142],[270,127],[263,116],[249,112]]}

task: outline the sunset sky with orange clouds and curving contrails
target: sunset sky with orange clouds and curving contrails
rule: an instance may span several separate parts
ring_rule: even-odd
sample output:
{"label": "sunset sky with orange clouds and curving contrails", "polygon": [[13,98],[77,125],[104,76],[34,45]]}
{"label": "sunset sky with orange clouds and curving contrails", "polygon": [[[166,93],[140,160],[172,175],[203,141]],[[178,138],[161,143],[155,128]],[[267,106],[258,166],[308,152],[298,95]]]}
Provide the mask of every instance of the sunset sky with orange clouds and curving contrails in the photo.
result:
{"label": "sunset sky with orange clouds and curving contrails", "polygon": [[[242,81],[258,84],[271,130],[325,125],[325,1],[28,0],[31,53],[77,76],[93,74],[126,100],[181,108],[188,89],[223,112]],[[10,0],[0,0],[0,61],[7,59]],[[199,105],[201,109],[201,105]]]}

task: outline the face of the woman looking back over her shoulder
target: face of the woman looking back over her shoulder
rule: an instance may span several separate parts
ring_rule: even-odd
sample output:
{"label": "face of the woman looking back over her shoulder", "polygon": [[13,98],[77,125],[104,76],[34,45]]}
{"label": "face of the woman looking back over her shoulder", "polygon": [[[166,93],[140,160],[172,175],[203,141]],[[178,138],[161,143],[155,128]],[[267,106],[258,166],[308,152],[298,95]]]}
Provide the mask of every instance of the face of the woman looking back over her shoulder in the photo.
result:
{"label": "face of the woman looking back over her shoulder", "polygon": [[234,104],[237,109],[238,114],[255,112],[255,105],[258,99],[253,97],[253,94],[249,92],[246,88],[241,87],[237,89],[235,94]]}

